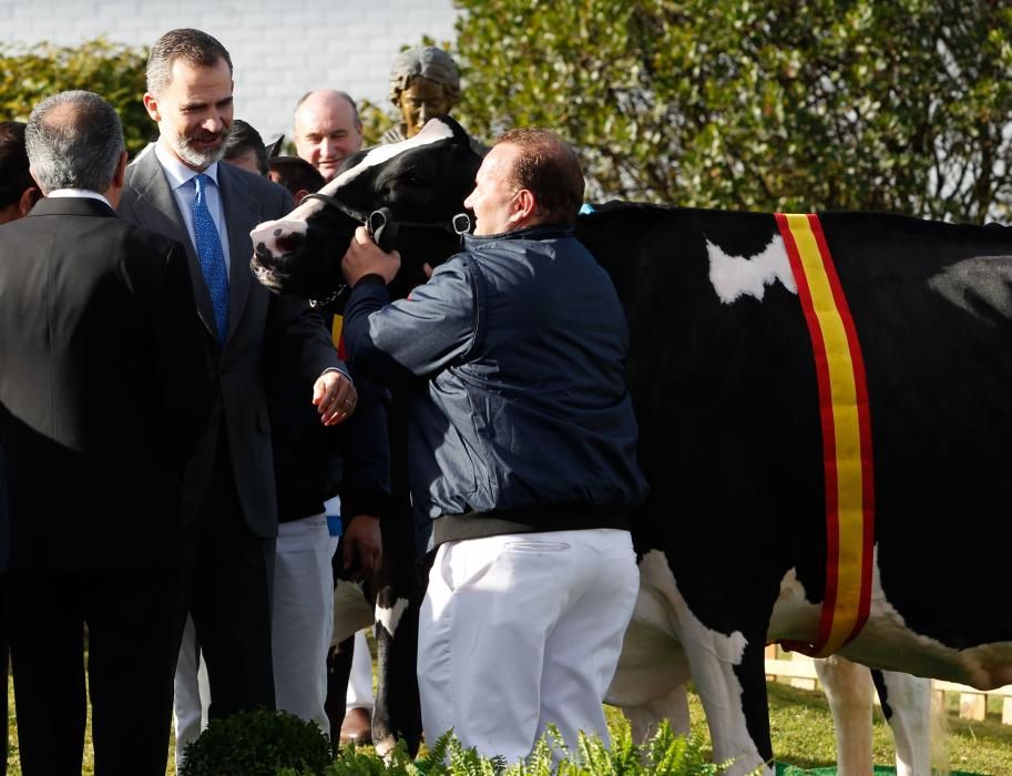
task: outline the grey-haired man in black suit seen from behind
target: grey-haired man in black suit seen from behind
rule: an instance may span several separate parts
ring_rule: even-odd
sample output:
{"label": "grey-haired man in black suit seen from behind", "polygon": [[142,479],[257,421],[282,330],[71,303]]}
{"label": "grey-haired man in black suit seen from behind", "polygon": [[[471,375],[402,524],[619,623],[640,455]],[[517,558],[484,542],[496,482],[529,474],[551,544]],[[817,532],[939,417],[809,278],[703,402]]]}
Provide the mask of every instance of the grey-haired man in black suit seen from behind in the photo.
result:
{"label": "grey-haired man in black suit seen from behind", "polygon": [[117,218],[126,152],[91,92],[25,130],[43,193],[0,227],[0,436],[21,768],[164,774],[183,476],[213,401],[182,246]]}

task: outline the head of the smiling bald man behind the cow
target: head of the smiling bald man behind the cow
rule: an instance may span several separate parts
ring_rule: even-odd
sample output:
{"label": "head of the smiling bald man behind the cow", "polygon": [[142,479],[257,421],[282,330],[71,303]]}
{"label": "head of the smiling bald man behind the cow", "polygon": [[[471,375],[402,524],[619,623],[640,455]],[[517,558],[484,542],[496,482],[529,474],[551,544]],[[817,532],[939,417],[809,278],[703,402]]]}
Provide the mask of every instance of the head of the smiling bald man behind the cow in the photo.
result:
{"label": "head of the smiling bald man behind the cow", "polygon": [[330,181],[347,156],[361,147],[362,122],[355,101],[333,89],[308,92],[295,106],[295,150],[324,181]]}

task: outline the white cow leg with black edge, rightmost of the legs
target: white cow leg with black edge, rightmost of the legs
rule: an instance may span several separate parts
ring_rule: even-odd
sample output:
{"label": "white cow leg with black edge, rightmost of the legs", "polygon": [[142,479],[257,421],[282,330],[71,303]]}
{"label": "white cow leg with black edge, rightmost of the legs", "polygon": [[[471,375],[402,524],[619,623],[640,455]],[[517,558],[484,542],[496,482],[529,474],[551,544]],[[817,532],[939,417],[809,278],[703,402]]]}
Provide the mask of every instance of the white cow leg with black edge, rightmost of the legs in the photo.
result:
{"label": "white cow leg with black edge, rightmost of the legs", "polygon": [[931,680],[872,671],[882,713],[896,742],[897,776],[931,773]]}

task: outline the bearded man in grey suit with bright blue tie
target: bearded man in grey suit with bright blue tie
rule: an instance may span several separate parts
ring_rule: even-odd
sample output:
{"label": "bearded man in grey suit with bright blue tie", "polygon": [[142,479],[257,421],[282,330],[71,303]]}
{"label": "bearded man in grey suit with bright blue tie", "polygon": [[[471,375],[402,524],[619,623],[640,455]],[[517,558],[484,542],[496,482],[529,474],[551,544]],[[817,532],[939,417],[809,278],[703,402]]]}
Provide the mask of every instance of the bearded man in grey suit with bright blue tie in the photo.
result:
{"label": "bearded man in grey suit with bright blue tie", "polygon": [[304,302],[274,296],[249,269],[249,231],[290,210],[258,175],[219,164],[233,120],[232,60],[200,30],[152,47],[144,106],[160,139],[126,170],[120,214],[182,242],[213,350],[217,402],[185,488],[187,595],[207,663],[209,714],[275,705],[270,581],[277,499],[264,372],[282,359],[313,385],[334,425],[356,395],[329,333]]}

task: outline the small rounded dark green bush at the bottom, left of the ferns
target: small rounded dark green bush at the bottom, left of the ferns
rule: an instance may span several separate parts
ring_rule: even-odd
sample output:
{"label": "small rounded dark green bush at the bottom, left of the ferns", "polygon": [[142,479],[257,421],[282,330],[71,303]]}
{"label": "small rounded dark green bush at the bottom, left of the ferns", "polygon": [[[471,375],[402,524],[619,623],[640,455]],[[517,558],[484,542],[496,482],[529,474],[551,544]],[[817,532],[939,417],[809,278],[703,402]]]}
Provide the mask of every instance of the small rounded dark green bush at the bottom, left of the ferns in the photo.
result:
{"label": "small rounded dark green bush at the bottom, left of the ferns", "polygon": [[180,776],[319,776],[330,739],[287,712],[242,712],[213,719],[186,747]]}

